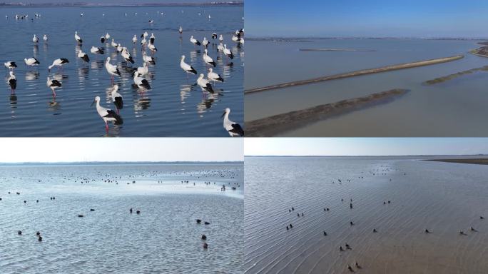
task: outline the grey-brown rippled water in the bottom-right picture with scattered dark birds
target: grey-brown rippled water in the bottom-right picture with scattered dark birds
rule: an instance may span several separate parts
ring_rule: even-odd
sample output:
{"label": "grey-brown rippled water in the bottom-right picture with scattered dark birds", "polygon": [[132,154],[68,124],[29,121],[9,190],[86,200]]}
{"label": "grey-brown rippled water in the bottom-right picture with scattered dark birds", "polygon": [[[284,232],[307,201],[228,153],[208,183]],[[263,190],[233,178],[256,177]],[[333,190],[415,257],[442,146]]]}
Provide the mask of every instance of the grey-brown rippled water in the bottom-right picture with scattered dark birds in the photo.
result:
{"label": "grey-brown rippled water in the bottom-right picture with scattered dark birds", "polygon": [[355,261],[360,273],[485,273],[487,178],[488,166],[411,157],[246,157],[245,273],[348,273]]}

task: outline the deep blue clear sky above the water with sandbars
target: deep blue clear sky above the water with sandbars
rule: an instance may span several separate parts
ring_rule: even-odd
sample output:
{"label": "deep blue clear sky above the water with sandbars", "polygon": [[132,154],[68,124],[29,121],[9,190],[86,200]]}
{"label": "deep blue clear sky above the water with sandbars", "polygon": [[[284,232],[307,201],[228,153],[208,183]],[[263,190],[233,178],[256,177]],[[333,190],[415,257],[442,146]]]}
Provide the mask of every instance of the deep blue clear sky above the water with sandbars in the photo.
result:
{"label": "deep blue clear sky above the water with sandbars", "polygon": [[245,0],[248,36],[488,37],[487,0]]}

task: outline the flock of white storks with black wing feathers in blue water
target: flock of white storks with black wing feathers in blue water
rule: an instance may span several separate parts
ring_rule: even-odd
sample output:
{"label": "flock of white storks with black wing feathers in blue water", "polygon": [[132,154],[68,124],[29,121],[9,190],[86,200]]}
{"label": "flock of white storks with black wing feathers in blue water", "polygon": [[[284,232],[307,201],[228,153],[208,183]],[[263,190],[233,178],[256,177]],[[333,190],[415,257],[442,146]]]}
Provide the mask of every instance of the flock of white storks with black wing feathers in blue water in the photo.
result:
{"label": "flock of white storks with black wing feathers in blue water", "polygon": [[[183,11],[181,11],[183,13]],[[158,14],[163,15],[163,13],[158,11]],[[127,16],[127,14],[124,14]],[[137,16],[137,13],[134,14]],[[201,14],[199,14],[201,15]],[[35,14],[36,17],[41,17],[41,14]],[[80,14],[81,17],[84,16],[84,14]],[[105,14],[103,14],[105,16]],[[24,20],[27,19],[28,15],[19,15],[16,14],[15,19],[16,20]],[[6,19],[8,19],[8,16],[6,16]],[[210,14],[208,15],[208,20],[210,21],[211,16]],[[154,20],[151,19],[148,21],[149,24],[154,24]],[[180,39],[181,36],[183,35],[183,27],[179,26],[178,27],[178,33],[180,34]],[[100,96],[96,96],[93,103],[96,103],[96,111],[98,115],[103,119],[105,126],[106,126],[106,131],[108,132],[108,122],[111,121],[115,124],[121,124],[122,118],[120,116],[120,111],[123,108],[123,98],[120,93],[118,93],[118,85],[115,83],[115,78],[121,78],[121,68],[125,68],[126,71],[130,72],[133,76],[133,87],[134,88],[139,88],[141,91],[146,91],[151,89],[151,83],[144,78],[146,75],[148,75],[149,68],[148,64],[155,66],[156,65],[156,57],[154,54],[158,52],[158,49],[156,48],[156,36],[152,33],[151,36],[149,36],[148,32],[145,31],[143,34],[141,34],[141,51],[142,51],[142,66],[137,67],[137,68],[132,68],[131,65],[136,63],[136,60],[133,59],[133,56],[131,56],[130,52],[128,51],[127,47],[122,46],[120,43],[116,43],[115,39],[111,37],[110,34],[106,33],[103,36],[100,36],[100,42],[101,44],[106,44],[105,46],[112,46],[114,49],[116,49],[117,54],[120,54],[121,57],[123,58],[123,65],[118,65],[118,64],[112,64],[111,63],[111,57],[107,57],[105,61],[105,68],[108,73],[108,75],[111,76],[111,85],[113,86],[113,91],[111,93],[112,101],[114,106],[116,106],[116,111],[112,111],[109,108],[104,108],[103,106],[100,105]],[[78,31],[74,31],[74,40],[76,41],[76,46],[77,46],[77,54],[76,57],[81,59],[83,62],[89,62],[90,61],[90,56],[84,51],[82,51],[81,46],[83,46],[83,39],[82,39],[82,33],[78,33]],[[42,39],[45,44],[48,43],[49,36],[47,34],[44,34],[42,36]],[[109,44],[109,39],[111,39],[111,42]],[[234,59],[234,55],[230,49],[227,48],[227,44],[223,44],[223,35],[220,34],[218,35],[217,33],[213,32],[211,39],[213,41],[216,41],[218,39],[218,46],[217,46],[217,52],[220,54],[223,54],[225,56],[225,60],[228,59]],[[39,44],[39,37],[34,34],[31,39],[32,43],[34,44]],[[135,45],[138,42],[138,36],[136,34],[133,35],[131,39],[132,43]],[[181,56],[180,60],[180,67],[183,70],[183,72],[186,74],[187,79],[189,80],[189,75],[192,74],[194,76],[198,75],[198,78],[196,79],[196,85],[200,86],[201,90],[203,93],[215,93],[215,89],[213,88],[213,84],[215,83],[223,83],[224,79],[222,76],[220,76],[218,73],[215,73],[213,71],[213,68],[217,66],[215,63],[214,59],[212,56],[210,56],[208,52],[208,45],[210,44],[210,41],[206,38],[203,37],[202,42],[198,41],[193,35],[190,35],[189,39],[190,43],[193,44],[193,47],[203,47],[203,62],[207,66],[207,74],[205,77],[205,73],[198,73],[198,71],[191,66],[191,64],[188,64],[185,62],[185,55]],[[236,30],[233,33],[232,36],[232,41],[236,44],[244,44],[244,30]],[[146,49],[149,51],[150,54],[147,54]],[[91,46],[90,48],[90,54],[96,55],[96,54],[105,54],[105,48],[104,47],[98,47],[98,46]],[[40,65],[40,62],[38,59],[35,57],[27,57],[24,58],[24,63],[26,66],[29,67],[37,67]],[[59,58],[53,61],[53,63],[48,67],[48,73],[51,72],[51,69],[56,67],[58,71],[63,70],[63,66],[69,65],[69,61],[66,58]],[[6,69],[9,70],[9,77],[7,78],[7,84],[9,85],[11,89],[11,95],[15,94],[15,90],[17,88],[17,81],[16,81],[16,76],[14,74],[14,70],[17,67],[16,61],[6,61],[4,63],[4,66]],[[59,77],[47,77],[46,81],[46,86],[51,89],[51,93],[56,97],[56,89],[57,88],[62,88],[63,83],[61,82],[62,78]],[[93,104],[92,104],[93,105]],[[228,131],[228,134],[230,136],[243,136],[244,132],[243,129],[240,127],[238,123],[232,122],[228,119],[228,115],[230,113],[229,108],[225,108],[224,112],[224,119],[223,119],[223,128],[225,128],[225,131]]]}

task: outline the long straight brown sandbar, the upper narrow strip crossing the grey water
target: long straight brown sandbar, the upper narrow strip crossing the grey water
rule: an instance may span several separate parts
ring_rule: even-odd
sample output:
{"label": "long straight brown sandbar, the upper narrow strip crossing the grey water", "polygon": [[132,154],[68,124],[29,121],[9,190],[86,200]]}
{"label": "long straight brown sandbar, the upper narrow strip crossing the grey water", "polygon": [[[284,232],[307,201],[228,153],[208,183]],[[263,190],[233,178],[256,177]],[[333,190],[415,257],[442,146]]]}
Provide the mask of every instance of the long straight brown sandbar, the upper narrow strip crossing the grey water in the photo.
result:
{"label": "long straight brown sandbar, the upper narrow strip crossing the grey water", "polygon": [[340,78],[362,76],[362,75],[367,75],[367,74],[372,74],[372,73],[380,73],[380,72],[385,72],[385,71],[395,71],[395,70],[405,69],[405,68],[415,68],[417,66],[429,66],[429,65],[434,65],[434,64],[441,64],[441,63],[445,63],[445,62],[455,61],[455,60],[459,60],[462,58],[464,58],[464,55],[457,55],[457,56],[451,56],[451,57],[445,57],[445,58],[439,58],[439,59],[429,59],[429,60],[417,61],[417,62],[412,62],[412,63],[397,64],[397,65],[392,65],[392,66],[383,66],[380,68],[369,68],[369,69],[363,69],[360,71],[340,73],[340,74],[335,74],[335,75],[331,75],[331,76],[322,76],[322,77],[318,77],[318,78],[312,78],[312,79],[301,80],[301,81],[293,81],[293,82],[288,82],[288,83],[278,83],[278,84],[275,84],[272,86],[264,86],[262,88],[251,88],[251,89],[245,90],[244,93],[245,94],[258,93],[258,92],[263,92],[263,91],[270,91],[272,89],[277,89],[277,88],[288,88],[290,86],[300,86],[300,85],[305,85],[308,83],[330,81],[330,80],[335,80],[335,79],[340,79]]}

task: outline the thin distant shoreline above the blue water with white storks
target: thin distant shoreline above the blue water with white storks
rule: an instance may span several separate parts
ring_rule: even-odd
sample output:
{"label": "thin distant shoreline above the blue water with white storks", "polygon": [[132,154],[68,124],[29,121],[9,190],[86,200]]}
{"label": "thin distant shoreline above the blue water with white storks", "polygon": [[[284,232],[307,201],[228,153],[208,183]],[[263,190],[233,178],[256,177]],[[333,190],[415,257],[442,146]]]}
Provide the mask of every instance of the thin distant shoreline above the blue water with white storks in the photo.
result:
{"label": "thin distant shoreline above the blue water with white storks", "polygon": [[44,3],[44,4],[15,4],[0,3],[0,7],[8,8],[42,8],[42,7],[66,7],[66,8],[90,8],[90,7],[134,7],[134,6],[244,6],[242,1],[205,2],[205,3],[146,3],[146,4],[89,4],[89,3]]}

